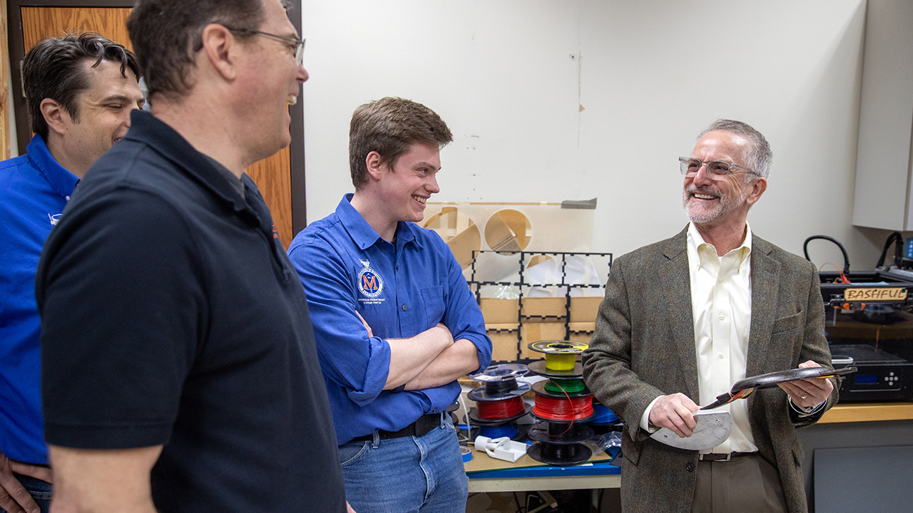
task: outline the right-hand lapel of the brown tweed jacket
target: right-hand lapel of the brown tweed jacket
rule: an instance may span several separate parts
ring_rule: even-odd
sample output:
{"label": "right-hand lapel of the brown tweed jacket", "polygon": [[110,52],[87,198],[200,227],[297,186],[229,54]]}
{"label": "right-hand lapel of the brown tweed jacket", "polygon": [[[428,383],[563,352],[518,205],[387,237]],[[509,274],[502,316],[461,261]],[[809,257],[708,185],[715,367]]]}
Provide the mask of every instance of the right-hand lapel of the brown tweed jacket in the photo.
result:
{"label": "right-hand lapel of the brown tweed jacket", "polygon": [[763,239],[751,236],[751,328],[745,375],[755,376],[767,368],[771,356],[771,330],[776,320],[777,291],[780,288],[780,262],[773,259],[773,248]]}

